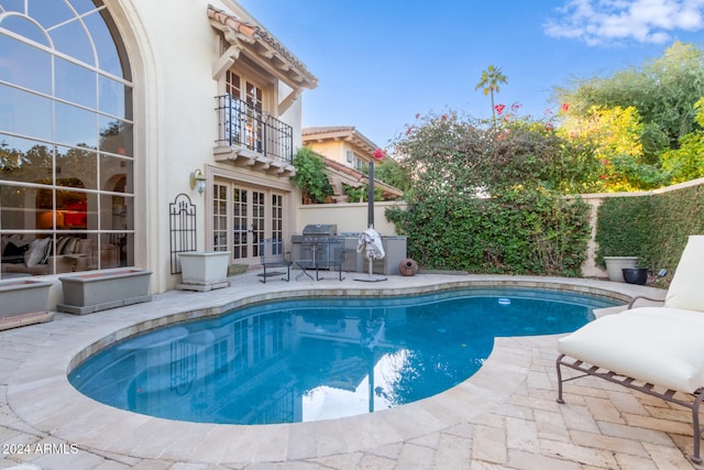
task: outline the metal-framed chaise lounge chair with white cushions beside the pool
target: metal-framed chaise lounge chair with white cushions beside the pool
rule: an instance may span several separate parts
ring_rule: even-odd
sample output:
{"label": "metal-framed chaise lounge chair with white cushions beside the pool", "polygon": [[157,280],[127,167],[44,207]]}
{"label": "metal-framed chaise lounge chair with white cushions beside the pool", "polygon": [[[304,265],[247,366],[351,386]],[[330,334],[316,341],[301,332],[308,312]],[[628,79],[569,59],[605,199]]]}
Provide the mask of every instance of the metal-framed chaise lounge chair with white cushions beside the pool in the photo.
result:
{"label": "metal-framed chaise lounge chair with white cushions beside the pool", "polygon": [[[601,317],[558,342],[558,403],[564,382],[593,375],[692,411],[694,447],[702,463],[700,407],[704,400],[704,236],[691,236],[662,307]],[[581,372],[563,378],[562,367]]]}

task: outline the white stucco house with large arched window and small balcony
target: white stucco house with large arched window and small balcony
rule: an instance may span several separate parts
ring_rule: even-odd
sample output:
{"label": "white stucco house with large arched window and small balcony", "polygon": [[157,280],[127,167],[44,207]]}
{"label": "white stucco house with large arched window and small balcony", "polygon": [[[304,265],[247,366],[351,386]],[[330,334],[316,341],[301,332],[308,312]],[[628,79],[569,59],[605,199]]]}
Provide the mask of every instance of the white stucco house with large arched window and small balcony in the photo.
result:
{"label": "white stucco house with large arched window and small balcony", "polygon": [[138,266],[172,288],[174,207],[195,248],[258,264],[296,227],[316,86],[234,1],[0,0],[0,278]]}

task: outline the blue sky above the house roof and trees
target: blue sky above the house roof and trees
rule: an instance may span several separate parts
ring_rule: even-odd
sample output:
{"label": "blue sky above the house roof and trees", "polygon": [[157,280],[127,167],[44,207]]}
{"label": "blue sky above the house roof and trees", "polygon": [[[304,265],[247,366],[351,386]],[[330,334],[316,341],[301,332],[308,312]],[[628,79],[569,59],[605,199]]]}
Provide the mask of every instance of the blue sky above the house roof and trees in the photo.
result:
{"label": "blue sky above the house roof and trees", "polygon": [[302,124],[353,125],[389,147],[417,116],[542,119],[556,87],[641,67],[674,41],[704,48],[704,0],[238,0],[318,77]]}

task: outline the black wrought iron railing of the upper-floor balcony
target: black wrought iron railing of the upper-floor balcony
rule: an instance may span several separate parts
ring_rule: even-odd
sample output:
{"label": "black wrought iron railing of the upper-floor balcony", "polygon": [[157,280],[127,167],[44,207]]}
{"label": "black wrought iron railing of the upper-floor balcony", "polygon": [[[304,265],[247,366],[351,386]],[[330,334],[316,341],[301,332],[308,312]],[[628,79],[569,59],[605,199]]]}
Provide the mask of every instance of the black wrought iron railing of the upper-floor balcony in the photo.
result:
{"label": "black wrought iron railing of the upper-floor balcony", "polygon": [[294,162],[293,128],[230,95],[218,101],[218,145],[242,146],[263,156]]}

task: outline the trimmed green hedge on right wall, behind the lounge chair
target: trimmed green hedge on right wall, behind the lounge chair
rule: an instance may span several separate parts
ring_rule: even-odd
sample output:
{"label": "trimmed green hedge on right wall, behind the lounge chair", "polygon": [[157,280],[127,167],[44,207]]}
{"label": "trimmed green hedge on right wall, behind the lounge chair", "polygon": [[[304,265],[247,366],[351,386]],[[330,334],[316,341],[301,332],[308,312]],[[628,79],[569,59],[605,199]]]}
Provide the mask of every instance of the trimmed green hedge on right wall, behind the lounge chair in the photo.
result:
{"label": "trimmed green hedge on right wall, behind the lounge chair", "polygon": [[671,278],[690,234],[704,234],[704,186],[664,194],[605,199],[598,208],[596,262],[639,256],[651,273]]}

